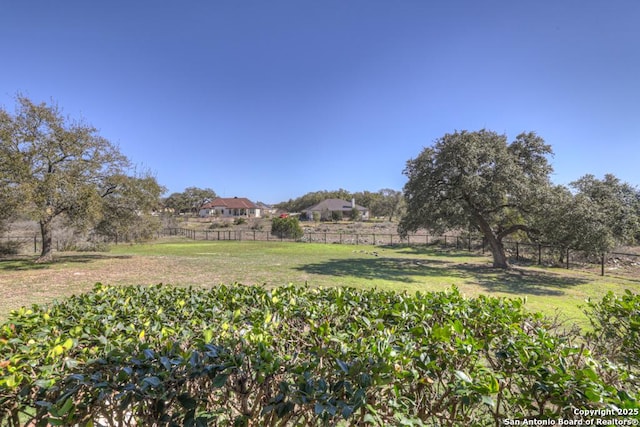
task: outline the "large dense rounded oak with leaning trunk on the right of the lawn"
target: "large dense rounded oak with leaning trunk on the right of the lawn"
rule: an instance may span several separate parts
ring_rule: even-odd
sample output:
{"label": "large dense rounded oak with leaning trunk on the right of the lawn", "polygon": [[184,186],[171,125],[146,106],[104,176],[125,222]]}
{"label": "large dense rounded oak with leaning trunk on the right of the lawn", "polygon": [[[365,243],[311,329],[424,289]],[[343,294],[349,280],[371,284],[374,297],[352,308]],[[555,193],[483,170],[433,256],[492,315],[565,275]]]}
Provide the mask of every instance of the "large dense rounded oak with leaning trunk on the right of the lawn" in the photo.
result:
{"label": "large dense rounded oak with leaning trunk on the right of the lawn", "polygon": [[536,204],[551,188],[549,154],[551,147],[532,132],[511,144],[488,130],[444,135],[407,162],[400,233],[471,225],[485,237],[494,267],[508,268],[503,239],[535,231]]}

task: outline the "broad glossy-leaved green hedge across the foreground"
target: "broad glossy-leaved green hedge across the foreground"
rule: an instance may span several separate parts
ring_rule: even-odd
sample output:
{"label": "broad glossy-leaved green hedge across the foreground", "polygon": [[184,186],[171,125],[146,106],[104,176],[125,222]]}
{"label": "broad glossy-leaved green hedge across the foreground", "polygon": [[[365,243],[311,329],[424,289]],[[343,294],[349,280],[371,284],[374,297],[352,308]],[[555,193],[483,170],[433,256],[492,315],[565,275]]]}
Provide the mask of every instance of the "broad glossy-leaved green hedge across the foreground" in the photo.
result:
{"label": "broad glossy-leaved green hedge across the foreground", "polygon": [[0,363],[3,426],[504,425],[639,397],[579,332],[456,288],[98,284],[13,312]]}

